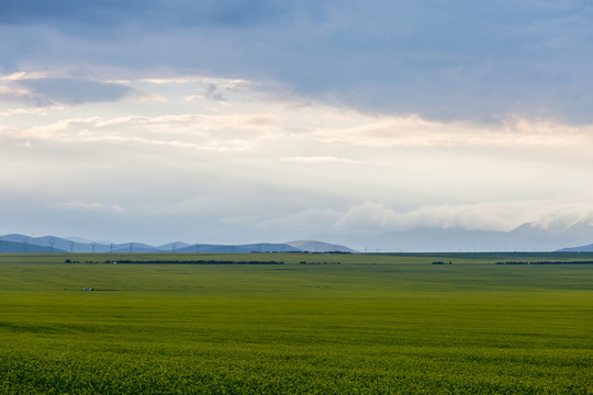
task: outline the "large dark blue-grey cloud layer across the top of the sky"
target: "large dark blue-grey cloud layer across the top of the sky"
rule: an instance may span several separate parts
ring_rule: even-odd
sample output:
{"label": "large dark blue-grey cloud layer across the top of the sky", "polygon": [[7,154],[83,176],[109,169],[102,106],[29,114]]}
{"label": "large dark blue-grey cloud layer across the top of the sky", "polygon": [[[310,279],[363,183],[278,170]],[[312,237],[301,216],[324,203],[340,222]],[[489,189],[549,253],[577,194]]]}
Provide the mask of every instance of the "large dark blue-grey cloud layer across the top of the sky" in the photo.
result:
{"label": "large dark blue-grey cloud layer across the top of the sky", "polygon": [[363,111],[593,122],[584,0],[14,1],[0,23],[5,71],[168,69],[269,81]]}

